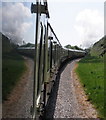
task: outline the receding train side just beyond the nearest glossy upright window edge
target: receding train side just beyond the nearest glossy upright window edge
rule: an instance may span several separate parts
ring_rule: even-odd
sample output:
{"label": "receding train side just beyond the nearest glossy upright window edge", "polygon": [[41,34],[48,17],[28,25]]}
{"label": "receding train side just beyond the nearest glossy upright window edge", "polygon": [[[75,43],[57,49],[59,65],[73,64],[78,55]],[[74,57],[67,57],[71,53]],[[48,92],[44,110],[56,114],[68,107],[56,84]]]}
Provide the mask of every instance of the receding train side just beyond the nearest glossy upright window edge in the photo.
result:
{"label": "receding train side just beyond the nearest glossy upright window edge", "polygon": [[46,85],[46,100],[47,104],[49,95],[51,93],[54,80],[56,78],[57,69],[60,64],[60,53],[61,53],[61,44],[59,43],[51,25],[48,23],[48,53],[47,53],[47,79],[45,81]]}

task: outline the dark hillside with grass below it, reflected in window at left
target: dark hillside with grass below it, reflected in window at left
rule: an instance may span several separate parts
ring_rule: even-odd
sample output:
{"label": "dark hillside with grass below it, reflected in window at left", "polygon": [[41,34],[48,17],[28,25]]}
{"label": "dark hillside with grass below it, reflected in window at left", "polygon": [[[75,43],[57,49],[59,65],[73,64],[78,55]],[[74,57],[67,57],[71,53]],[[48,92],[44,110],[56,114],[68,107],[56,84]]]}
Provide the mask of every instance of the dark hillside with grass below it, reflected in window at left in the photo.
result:
{"label": "dark hillside with grass below it, reflected in window at left", "polygon": [[14,86],[25,71],[23,57],[16,51],[17,45],[0,33],[2,40],[2,101],[8,98]]}

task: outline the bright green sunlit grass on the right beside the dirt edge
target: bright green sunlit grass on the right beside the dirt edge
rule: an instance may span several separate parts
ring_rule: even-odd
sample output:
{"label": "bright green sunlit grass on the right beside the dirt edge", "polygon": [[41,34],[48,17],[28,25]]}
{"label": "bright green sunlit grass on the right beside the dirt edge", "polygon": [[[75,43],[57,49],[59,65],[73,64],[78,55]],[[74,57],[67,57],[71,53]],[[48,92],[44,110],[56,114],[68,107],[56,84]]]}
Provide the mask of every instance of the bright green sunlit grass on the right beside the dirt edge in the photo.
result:
{"label": "bright green sunlit grass on the right beside the dirt edge", "polygon": [[79,63],[76,72],[88,100],[94,104],[99,117],[104,117],[104,62],[103,58],[87,56]]}

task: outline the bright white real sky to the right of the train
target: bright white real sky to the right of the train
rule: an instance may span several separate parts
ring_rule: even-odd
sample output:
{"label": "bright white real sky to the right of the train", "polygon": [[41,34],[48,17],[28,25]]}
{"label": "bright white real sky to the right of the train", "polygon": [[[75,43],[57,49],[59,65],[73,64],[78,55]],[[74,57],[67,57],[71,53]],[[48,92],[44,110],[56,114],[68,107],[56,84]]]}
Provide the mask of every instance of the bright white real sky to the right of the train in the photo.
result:
{"label": "bright white real sky to the right of the train", "polygon": [[104,35],[104,2],[50,2],[50,23],[62,45],[89,47]]}

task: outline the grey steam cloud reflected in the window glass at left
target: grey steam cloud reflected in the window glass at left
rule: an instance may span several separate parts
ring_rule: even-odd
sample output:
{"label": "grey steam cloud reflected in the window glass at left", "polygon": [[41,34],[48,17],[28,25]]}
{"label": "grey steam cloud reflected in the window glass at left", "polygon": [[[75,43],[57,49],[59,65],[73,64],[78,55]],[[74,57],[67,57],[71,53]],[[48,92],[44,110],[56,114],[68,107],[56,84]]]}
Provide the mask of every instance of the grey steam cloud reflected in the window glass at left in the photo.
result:
{"label": "grey steam cloud reflected in the window glass at left", "polygon": [[2,32],[15,43],[22,43],[26,31],[32,23],[30,9],[23,3],[2,4]]}

